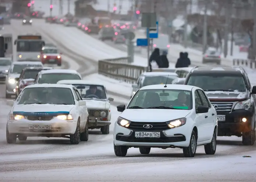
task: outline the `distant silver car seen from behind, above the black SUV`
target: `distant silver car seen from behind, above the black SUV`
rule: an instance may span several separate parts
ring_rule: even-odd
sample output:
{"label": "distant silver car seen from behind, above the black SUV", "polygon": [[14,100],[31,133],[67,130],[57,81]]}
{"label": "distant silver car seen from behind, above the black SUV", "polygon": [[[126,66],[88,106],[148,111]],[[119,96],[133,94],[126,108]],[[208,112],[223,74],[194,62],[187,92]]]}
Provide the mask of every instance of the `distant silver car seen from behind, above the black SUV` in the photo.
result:
{"label": "distant silver car seen from behind, above the black SUV", "polygon": [[217,65],[220,65],[220,55],[220,51],[218,51],[216,48],[209,48],[203,55],[202,63],[217,63]]}

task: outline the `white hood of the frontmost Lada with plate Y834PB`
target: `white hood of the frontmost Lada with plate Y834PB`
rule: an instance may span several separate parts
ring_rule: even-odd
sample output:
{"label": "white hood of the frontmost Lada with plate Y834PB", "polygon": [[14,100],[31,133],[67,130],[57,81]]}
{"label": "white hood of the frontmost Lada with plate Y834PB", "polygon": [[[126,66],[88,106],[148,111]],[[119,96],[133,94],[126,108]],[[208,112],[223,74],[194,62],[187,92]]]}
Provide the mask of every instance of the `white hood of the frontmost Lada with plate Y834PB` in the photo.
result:
{"label": "white hood of the frontmost Lada with plate Y834PB", "polygon": [[191,110],[125,109],[120,117],[137,122],[165,122],[186,117]]}

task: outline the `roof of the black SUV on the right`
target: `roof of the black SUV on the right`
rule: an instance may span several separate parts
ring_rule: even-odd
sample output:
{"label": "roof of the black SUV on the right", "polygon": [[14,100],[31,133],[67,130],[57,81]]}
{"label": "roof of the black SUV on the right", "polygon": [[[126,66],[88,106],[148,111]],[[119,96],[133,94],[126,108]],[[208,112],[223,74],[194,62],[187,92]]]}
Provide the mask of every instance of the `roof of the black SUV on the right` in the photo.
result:
{"label": "roof of the black SUV on the right", "polygon": [[192,73],[243,73],[243,69],[240,67],[225,67],[225,66],[207,66],[207,67],[197,67],[193,69]]}

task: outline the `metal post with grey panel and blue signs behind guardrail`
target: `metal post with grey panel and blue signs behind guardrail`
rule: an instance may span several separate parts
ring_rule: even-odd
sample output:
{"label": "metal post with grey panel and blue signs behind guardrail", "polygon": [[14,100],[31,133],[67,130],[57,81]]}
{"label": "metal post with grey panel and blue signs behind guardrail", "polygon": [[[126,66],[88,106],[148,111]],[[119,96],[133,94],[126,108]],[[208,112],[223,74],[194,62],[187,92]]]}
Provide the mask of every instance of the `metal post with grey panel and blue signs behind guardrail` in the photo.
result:
{"label": "metal post with grey panel and blue signs behind guardrail", "polygon": [[[147,46],[147,69],[149,72],[151,72],[152,70],[150,70],[151,67],[150,67],[150,61],[149,61],[150,39],[158,38],[158,22],[156,21],[156,13],[155,12],[142,13],[141,26],[146,28],[146,31],[147,31],[146,32],[147,33],[147,38],[146,38],[147,39],[147,45],[146,45]],[[143,42],[143,41],[139,40],[139,43],[140,42]],[[145,43],[145,41],[143,43]],[[137,40],[137,45],[138,45],[138,40]]]}

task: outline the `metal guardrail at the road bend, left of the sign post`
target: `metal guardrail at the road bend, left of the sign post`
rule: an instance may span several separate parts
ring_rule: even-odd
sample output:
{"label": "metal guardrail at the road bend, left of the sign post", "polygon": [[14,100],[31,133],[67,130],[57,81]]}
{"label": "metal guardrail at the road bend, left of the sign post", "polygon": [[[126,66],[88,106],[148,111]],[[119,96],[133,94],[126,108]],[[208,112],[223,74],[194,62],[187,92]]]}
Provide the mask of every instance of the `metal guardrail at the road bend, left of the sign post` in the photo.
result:
{"label": "metal guardrail at the road bend, left of the sign post", "polygon": [[99,60],[98,73],[112,79],[135,83],[147,68],[131,65],[128,63],[128,59],[129,57]]}

